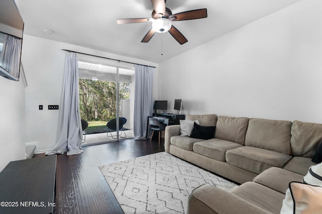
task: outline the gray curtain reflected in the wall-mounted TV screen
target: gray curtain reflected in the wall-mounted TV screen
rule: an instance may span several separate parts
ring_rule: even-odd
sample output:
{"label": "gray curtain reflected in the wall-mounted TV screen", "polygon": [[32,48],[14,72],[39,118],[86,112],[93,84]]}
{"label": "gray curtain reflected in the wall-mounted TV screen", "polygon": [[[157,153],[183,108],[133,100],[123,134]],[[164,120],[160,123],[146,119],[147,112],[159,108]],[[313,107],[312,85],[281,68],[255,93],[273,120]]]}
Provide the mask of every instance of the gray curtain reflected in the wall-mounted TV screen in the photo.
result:
{"label": "gray curtain reflected in the wall-mounted TV screen", "polygon": [[5,36],[0,65],[14,77],[19,76],[21,40],[9,35]]}

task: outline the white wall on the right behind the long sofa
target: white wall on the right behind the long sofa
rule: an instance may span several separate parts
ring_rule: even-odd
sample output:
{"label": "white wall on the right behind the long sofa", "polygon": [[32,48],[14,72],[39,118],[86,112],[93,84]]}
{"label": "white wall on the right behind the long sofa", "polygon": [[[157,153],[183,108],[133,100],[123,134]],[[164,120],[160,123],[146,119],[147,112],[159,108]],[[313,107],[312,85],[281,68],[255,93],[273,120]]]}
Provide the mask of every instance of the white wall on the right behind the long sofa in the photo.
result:
{"label": "white wall on the right behind the long sofa", "polygon": [[322,1],[303,0],[159,65],[183,113],[322,123]]}

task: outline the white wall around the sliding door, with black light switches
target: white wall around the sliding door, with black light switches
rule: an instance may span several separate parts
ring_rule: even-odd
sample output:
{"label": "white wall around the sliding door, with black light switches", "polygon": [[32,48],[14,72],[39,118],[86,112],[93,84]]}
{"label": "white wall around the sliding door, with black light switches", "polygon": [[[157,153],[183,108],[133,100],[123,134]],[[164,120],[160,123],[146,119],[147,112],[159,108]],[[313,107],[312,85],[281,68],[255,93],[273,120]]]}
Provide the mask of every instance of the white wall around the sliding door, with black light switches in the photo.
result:
{"label": "white wall around the sliding door, with black light switches", "polygon": [[[48,110],[48,105],[60,106],[66,53],[61,49],[157,66],[154,63],[142,60],[24,35],[22,62],[28,79],[28,87],[26,88],[26,142],[38,142],[38,152],[50,149],[56,140],[59,110]],[[79,55],[79,58],[89,60],[89,57],[84,55]],[[101,61],[98,58],[96,60]],[[115,61],[108,61],[107,64],[119,65]],[[126,67],[125,65],[121,66]],[[155,73],[157,77],[157,69]],[[157,82],[155,81],[155,83]],[[157,93],[156,84],[155,88],[155,93]],[[44,110],[38,110],[38,105],[43,105]]]}

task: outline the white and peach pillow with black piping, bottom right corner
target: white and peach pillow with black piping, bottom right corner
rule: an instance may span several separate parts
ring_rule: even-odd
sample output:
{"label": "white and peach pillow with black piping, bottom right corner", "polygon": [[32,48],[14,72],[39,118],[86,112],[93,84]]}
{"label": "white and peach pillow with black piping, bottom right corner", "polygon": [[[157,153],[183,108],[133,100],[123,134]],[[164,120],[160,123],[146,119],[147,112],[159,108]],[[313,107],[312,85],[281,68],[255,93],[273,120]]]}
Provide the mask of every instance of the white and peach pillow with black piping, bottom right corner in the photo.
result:
{"label": "white and peach pillow with black piping, bottom right corner", "polygon": [[322,187],[290,182],[285,194],[281,214],[318,214],[322,211]]}

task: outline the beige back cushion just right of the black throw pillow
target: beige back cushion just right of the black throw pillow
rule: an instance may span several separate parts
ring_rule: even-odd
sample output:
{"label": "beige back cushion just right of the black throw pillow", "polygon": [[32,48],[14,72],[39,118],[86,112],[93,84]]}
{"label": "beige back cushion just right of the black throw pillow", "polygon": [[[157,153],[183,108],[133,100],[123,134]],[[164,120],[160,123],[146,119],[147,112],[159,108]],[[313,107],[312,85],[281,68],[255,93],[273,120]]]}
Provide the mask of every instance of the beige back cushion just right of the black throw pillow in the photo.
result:
{"label": "beige back cushion just right of the black throw pillow", "polygon": [[249,118],[224,117],[217,119],[215,138],[244,145]]}

